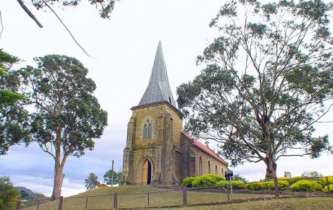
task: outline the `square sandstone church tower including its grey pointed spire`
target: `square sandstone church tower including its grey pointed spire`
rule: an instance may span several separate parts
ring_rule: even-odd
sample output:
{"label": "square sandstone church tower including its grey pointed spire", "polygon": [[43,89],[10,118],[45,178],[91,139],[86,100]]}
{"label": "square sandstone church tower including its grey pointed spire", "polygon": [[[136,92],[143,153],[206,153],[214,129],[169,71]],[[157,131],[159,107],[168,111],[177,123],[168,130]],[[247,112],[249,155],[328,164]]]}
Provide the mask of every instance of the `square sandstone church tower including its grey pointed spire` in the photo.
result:
{"label": "square sandstone church tower including its grey pointed spire", "polygon": [[160,41],[147,90],[132,107],[121,185],[180,185],[182,127]]}

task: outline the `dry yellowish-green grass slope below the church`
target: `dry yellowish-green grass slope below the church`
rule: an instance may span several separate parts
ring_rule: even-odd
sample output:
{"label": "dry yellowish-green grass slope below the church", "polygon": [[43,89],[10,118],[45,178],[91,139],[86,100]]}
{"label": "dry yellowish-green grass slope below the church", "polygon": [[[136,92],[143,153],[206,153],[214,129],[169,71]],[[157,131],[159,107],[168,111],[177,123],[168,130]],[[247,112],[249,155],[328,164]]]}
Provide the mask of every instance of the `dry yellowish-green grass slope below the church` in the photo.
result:
{"label": "dry yellowish-green grass slope below the church", "polygon": [[[149,196],[149,207],[176,207],[179,208],[175,209],[224,209],[225,207],[229,206],[234,209],[241,209],[242,206],[244,209],[245,207],[250,207],[248,204],[253,204],[253,208],[261,206],[261,208],[265,207],[264,209],[269,209],[273,205],[274,202],[279,204],[287,205],[283,200],[288,200],[287,203],[291,202],[307,202],[310,199],[274,199],[272,195],[256,195],[256,194],[234,194],[233,200],[243,200],[243,199],[251,199],[251,198],[265,198],[268,200],[265,201],[251,201],[251,202],[243,202],[243,203],[235,203],[235,204],[220,204],[214,206],[194,206],[194,207],[181,207],[183,205],[183,191],[172,191],[170,189],[161,189],[152,186],[130,186],[130,187],[105,187],[100,189],[93,189],[90,191],[86,191],[84,193],[79,193],[77,196],[71,196],[68,198],[63,198],[63,210],[85,210],[85,202],[86,197],[88,196],[88,209],[113,209],[113,194],[114,192],[118,193],[118,208],[120,209],[127,209],[127,208],[137,208],[137,209],[144,209],[143,207],[148,207],[148,196]],[[149,195],[148,195],[149,192]],[[312,198],[311,198],[312,199]],[[323,199],[325,204],[325,199],[327,198],[318,198]],[[330,202],[333,203],[333,198],[329,198]],[[216,202],[225,202],[228,200],[227,195],[225,193],[219,192],[205,192],[199,191],[197,189],[189,189],[188,190],[188,205],[192,204],[213,204]],[[315,200],[316,201],[316,200]],[[272,202],[272,203],[270,203]],[[328,202],[328,201],[327,201]],[[262,204],[263,203],[263,204]],[[54,202],[48,202],[46,204],[40,204],[39,210],[57,210],[58,209],[59,201],[56,200]],[[300,205],[301,205],[300,204]],[[265,206],[267,205],[267,206]],[[274,204],[275,205],[275,204]],[[310,207],[311,205],[304,204],[305,207]],[[327,205],[330,209],[333,209],[333,204]],[[284,206],[282,205],[284,208]],[[294,206],[296,207],[296,206]],[[231,208],[231,209],[232,209]],[[29,207],[26,210],[35,210],[37,207]],[[168,209],[168,208],[167,208]],[[277,208],[279,209],[279,208]],[[290,209],[295,209],[290,207]],[[296,208],[298,209],[298,208]],[[325,208],[320,208],[321,210],[325,210]],[[151,209],[150,209],[151,210]]]}

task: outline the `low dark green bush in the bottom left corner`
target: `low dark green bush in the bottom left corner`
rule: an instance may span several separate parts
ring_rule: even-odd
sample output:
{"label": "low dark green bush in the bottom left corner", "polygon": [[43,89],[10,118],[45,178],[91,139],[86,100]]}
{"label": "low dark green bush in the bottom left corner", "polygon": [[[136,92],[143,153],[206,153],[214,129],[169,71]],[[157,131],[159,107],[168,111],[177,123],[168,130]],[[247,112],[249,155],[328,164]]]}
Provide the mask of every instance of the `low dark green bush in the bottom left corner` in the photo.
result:
{"label": "low dark green bush in the bottom left corner", "polygon": [[[11,210],[15,208],[15,202],[20,200],[19,189],[15,188],[6,176],[0,177],[0,209]],[[12,204],[10,204],[12,203]]]}

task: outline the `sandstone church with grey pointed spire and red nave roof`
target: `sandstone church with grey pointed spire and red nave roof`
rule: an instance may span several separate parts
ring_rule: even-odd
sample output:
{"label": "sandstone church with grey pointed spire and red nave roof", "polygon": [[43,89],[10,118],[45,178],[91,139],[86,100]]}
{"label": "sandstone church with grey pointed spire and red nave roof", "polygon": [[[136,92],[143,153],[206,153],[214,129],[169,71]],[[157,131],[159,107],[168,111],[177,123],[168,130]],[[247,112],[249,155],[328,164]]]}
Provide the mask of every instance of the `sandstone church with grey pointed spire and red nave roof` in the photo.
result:
{"label": "sandstone church with grey pointed spire and red nave roof", "polygon": [[228,163],[208,146],[183,132],[161,41],[147,90],[139,105],[131,109],[121,185],[178,186],[188,176],[224,176]]}

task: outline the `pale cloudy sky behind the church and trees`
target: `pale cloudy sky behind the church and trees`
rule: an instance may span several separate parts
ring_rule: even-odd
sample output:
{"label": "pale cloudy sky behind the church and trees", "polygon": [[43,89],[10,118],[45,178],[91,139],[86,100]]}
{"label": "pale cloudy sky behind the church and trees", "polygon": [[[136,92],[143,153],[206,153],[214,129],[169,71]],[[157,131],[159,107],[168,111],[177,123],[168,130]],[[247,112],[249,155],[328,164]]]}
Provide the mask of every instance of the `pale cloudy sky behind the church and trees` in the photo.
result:
{"label": "pale cloudy sky behind the church and trees", "polygon": [[[30,0],[24,1],[43,28],[28,17],[17,1],[0,1],[3,32],[0,48],[22,61],[13,68],[35,65],[33,58],[47,54],[64,54],[77,58],[88,68],[88,77],[97,84],[94,92],[102,109],[108,112],[108,127],[95,140],[93,151],[81,158],[69,157],[65,164],[62,196],[85,191],[84,180],[90,172],[103,182],[103,174],[112,167],[122,166],[128,120],[131,107],[139,104],[148,85],[159,41],[162,43],[168,78],[174,98],[176,87],[200,74],[196,56],[218,36],[209,27],[222,5],[209,0],[121,0],[116,1],[110,19],[101,19],[99,12],[86,0],[76,8],[52,6],[80,45],[74,43],[57,17],[48,9],[36,10]],[[328,114],[324,120],[332,119]],[[316,125],[316,134],[328,134],[333,145],[332,123]],[[214,143],[210,143],[214,148]],[[299,176],[303,171],[319,171],[333,175],[332,155],[321,158],[282,158],[278,160],[278,176],[290,171]],[[228,160],[226,160],[228,162]],[[0,156],[0,176],[10,176],[15,186],[50,196],[54,172],[52,157],[32,143],[29,147],[10,147],[8,155]],[[245,163],[234,174],[248,180],[265,176],[265,165]]]}

